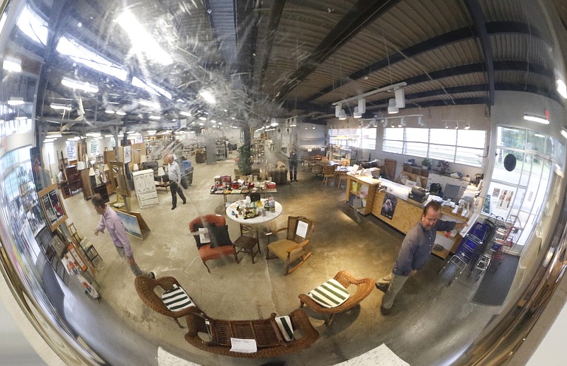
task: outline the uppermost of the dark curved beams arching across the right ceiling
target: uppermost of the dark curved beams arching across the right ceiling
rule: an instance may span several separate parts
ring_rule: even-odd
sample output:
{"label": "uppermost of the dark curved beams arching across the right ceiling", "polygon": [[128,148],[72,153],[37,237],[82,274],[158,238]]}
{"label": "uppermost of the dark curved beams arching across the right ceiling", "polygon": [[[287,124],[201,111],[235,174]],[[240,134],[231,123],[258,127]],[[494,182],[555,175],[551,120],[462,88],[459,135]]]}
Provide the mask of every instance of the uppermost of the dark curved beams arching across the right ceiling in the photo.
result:
{"label": "uppermost of the dark curved beams arching across the right ceiling", "polygon": [[[539,33],[534,32],[534,30],[530,30],[529,25],[520,22],[512,22],[512,21],[498,21],[498,22],[491,22],[486,23],[486,29],[490,35],[498,35],[498,34],[521,34],[521,35],[531,35],[536,38],[541,38]],[[390,64],[395,64],[395,62],[402,62],[405,59],[408,59],[413,56],[420,55],[425,52],[431,52],[433,50],[437,50],[438,48],[445,47],[450,45],[451,43],[462,42],[464,40],[471,39],[476,37],[476,31],[471,26],[466,26],[463,28],[459,28],[456,30],[451,30],[450,32],[444,33],[442,35],[437,35],[435,37],[430,38],[429,40],[425,40],[423,42],[417,43],[417,45],[412,45],[410,47],[406,47],[405,49],[401,50],[400,52],[395,52],[389,56]],[[372,74],[373,72],[377,72],[384,67],[388,67],[388,57],[384,57],[373,64],[370,64],[367,67],[364,67],[357,72],[354,72],[347,76],[347,78],[342,79],[339,81],[340,85],[344,86],[349,84],[352,81],[357,81],[362,79],[364,76]],[[483,70],[480,70],[481,72]],[[408,82],[408,84],[412,84]],[[327,86],[326,88],[322,88],[320,91],[315,93],[310,98],[307,98],[306,101],[312,102],[315,99],[320,98],[320,96],[324,96],[327,93],[330,93],[335,89],[335,86]]]}

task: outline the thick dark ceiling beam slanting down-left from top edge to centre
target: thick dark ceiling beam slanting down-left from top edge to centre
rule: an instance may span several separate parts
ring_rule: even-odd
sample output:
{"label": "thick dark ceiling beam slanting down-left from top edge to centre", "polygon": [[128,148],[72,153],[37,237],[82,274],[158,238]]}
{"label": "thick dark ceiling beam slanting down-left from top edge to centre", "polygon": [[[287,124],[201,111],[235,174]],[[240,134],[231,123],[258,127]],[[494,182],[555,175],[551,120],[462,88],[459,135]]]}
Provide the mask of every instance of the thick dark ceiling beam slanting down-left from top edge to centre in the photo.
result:
{"label": "thick dark ceiling beam slanting down-left from top edge to centre", "polygon": [[339,47],[354,38],[367,25],[389,11],[398,2],[400,0],[359,0],[357,4],[354,4],[344,18],[330,30],[310,55],[301,62],[296,72],[283,84],[276,96],[276,101],[281,101],[298,83],[314,72],[325,59],[333,55]]}

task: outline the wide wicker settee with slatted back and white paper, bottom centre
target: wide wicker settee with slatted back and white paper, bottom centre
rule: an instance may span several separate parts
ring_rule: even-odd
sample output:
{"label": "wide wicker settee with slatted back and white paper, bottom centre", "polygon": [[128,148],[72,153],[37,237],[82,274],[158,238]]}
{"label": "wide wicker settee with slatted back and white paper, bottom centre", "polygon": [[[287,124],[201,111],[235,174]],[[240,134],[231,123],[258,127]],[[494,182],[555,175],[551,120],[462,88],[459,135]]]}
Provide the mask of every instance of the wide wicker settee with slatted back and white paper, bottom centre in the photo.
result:
{"label": "wide wicker settee with slatted back and white paper, bottom centre", "polygon": [[[240,358],[269,358],[287,353],[297,352],[308,348],[319,338],[319,332],[313,328],[307,314],[301,309],[295,309],[289,314],[294,331],[301,331],[303,336],[293,341],[283,341],[275,321],[276,314],[269,319],[257,320],[220,320],[207,319],[210,323],[210,341],[204,341],[198,333],[208,333],[205,324],[206,316],[191,313],[186,316],[187,333],[185,340],[201,350],[218,355]],[[254,339],[257,352],[239,353],[230,350],[230,338]]]}

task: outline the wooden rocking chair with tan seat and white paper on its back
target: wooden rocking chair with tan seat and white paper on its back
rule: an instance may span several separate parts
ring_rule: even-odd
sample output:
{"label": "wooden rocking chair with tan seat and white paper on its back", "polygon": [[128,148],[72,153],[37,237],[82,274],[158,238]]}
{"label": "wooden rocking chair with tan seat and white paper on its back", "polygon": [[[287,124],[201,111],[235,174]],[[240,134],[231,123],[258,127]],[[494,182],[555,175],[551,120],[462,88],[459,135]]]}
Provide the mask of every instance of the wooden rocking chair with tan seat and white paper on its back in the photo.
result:
{"label": "wooden rocking chair with tan seat and white paper on its back", "polygon": [[[280,258],[282,261],[286,262],[286,275],[292,273],[311,256],[311,252],[307,250],[306,246],[309,244],[309,238],[311,233],[313,233],[313,229],[313,221],[306,217],[288,217],[287,227],[282,227],[281,229],[276,229],[266,234],[266,236],[268,236],[266,259]],[[271,236],[284,230],[287,233],[286,239],[274,241],[274,243],[270,244]],[[271,257],[270,252],[273,253],[275,257]],[[296,261],[298,261],[298,264],[293,266],[290,270],[290,265]]]}

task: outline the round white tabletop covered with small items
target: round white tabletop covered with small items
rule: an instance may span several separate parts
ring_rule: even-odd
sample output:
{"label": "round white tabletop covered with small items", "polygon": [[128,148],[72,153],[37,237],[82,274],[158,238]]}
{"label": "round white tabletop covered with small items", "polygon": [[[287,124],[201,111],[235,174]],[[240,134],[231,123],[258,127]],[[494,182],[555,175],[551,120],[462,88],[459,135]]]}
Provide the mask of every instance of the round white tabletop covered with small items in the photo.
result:
{"label": "round white tabletop covered with small items", "polygon": [[282,211],[283,207],[279,202],[266,198],[255,202],[252,200],[232,202],[226,208],[226,215],[240,224],[264,224],[279,217]]}

